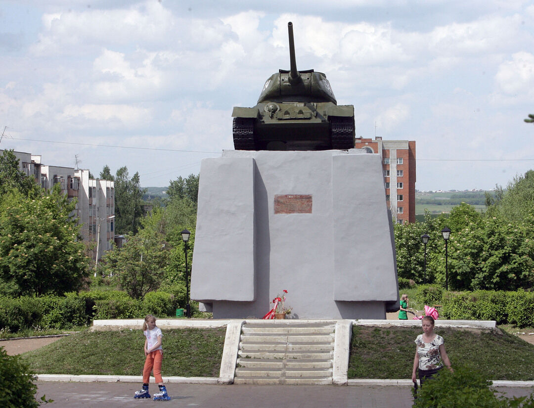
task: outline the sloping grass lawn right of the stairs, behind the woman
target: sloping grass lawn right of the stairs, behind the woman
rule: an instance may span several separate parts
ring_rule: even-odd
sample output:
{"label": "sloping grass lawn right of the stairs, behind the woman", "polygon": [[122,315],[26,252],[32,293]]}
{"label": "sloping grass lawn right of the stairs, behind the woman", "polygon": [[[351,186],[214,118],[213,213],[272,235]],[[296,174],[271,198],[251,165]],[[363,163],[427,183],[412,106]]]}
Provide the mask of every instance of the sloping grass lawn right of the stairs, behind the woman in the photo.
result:
{"label": "sloping grass lawn right of the stairs, behind the woman", "polygon": [[[534,345],[501,329],[437,328],[452,367],[476,368],[489,380],[534,380]],[[348,378],[411,378],[421,327],[352,327]]]}

